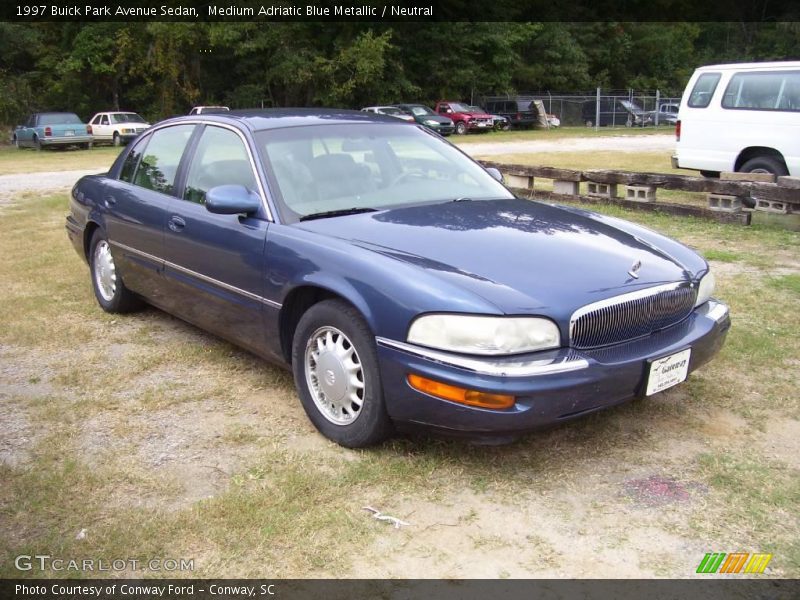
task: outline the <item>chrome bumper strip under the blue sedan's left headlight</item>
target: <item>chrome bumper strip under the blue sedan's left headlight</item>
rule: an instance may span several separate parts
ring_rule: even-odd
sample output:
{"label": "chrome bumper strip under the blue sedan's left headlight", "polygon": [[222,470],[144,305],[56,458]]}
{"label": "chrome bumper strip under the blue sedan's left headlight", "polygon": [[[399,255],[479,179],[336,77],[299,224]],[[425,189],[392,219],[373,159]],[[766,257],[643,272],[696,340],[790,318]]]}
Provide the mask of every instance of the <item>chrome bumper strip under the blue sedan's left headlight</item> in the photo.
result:
{"label": "chrome bumper strip under the blue sedan's left headlight", "polygon": [[395,348],[408,352],[421,358],[427,358],[438,363],[459,367],[481,375],[497,375],[501,377],[535,377],[538,375],[552,375],[554,373],[568,373],[586,369],[589,361],[585,358],[565,356],[560,359],[515,360],[511,357],[506,360],[473,358],[460,356],[449,352],[440,352],[423,348],[414,344],[398,342],[384,337],[376,337],[375,341],[388,348]]}

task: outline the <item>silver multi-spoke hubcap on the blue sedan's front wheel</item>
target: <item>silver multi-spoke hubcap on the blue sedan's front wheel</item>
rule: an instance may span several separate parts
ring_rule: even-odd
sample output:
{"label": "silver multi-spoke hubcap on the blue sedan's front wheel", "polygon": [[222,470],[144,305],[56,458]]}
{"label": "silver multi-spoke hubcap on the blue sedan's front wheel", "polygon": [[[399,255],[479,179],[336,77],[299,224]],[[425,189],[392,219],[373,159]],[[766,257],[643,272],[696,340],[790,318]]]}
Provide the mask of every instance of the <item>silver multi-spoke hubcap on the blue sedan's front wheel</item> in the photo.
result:
{"label": "silver multi-spoke hubcap on the blue sedan's front wheel", "polygon": [[331,423],[348,425],[364,404],[364,371],[355,347],[335,327],[320,327],[306,344],[306,382],[319,411]]}

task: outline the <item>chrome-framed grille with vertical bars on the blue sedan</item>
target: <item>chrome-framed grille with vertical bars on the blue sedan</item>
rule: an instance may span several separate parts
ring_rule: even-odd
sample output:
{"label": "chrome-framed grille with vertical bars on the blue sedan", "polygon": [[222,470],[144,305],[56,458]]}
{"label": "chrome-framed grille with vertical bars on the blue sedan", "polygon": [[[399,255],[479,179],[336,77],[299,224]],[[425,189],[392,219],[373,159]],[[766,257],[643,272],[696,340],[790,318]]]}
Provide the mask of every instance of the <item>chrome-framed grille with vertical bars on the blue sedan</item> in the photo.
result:
{"label": "chrome-framed grille with vertical bars on the blue sedan", "polygon": [[697,290],[668,284],[609,298],[578,309],[569,324],[571,345],[598,348],[633,340],[680,323],[694,308]]}

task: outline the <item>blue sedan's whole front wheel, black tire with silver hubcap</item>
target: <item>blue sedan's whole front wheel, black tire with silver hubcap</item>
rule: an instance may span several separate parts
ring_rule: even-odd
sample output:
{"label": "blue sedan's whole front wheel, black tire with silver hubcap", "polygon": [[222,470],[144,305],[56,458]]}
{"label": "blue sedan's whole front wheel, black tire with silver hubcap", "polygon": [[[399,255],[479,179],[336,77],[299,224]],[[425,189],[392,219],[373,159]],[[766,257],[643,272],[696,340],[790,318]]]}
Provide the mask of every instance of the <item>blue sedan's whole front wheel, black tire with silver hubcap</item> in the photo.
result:
{"label": "blue sedan's whole front wheel, black tire with silver hubcap", "polygon": [[[321,341],[328,339],[328,333],[336,343]],[[345,352],[352,348],[347,359],[352,366],[340,362],[340,347]],[[349,373],[345,370],[348,368]],[[372,446],[391,436],[393,427],[383,400],[375,337],[351,305],[325,300],[306,311],[292,342],[292,370],[300,402],[322,435],[347,448]],[[323,370],[326,379],[320,381],[316,375]],[[360,388],[347,383],[348,374],[361,382]],[[332,400],[333,394],[340,395]],[[349,400],[353,397],[360,406]]]}

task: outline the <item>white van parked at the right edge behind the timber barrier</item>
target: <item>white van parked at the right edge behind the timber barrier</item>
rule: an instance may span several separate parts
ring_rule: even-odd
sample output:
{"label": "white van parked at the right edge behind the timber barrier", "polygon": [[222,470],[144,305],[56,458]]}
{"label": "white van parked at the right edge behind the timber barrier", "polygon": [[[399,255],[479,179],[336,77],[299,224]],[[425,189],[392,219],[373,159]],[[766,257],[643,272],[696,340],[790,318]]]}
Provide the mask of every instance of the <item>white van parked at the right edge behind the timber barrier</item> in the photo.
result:
{"label": "white van parked at the right edge behind the timber barrier", "polygon": [[800,61],[700,67],[675,135],[673,167],[800,176]]}

